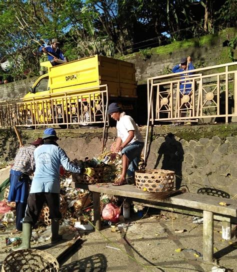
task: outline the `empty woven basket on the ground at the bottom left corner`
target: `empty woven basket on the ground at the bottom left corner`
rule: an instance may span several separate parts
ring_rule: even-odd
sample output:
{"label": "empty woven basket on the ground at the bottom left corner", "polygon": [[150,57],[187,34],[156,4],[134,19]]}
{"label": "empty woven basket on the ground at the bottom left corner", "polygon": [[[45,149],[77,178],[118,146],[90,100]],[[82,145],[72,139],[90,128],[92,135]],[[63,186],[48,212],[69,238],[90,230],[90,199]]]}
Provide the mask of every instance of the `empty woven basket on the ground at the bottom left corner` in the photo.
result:
{"label": "empty woven basket on the ground at the bottom left corner", "polygon": [[18,250],[7,255],[1,272],[57,272],[59,264],[53,256],[40,250]]}

